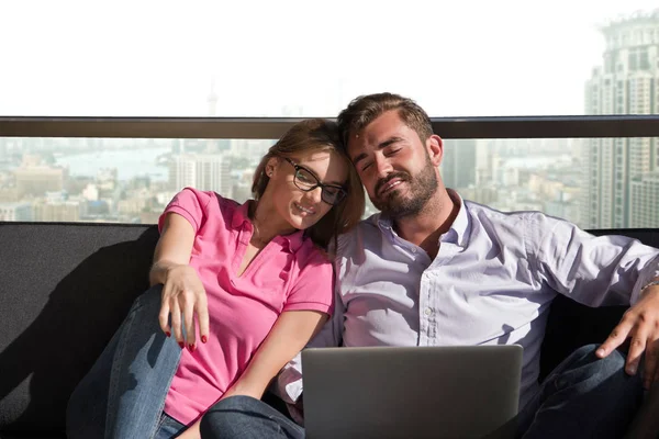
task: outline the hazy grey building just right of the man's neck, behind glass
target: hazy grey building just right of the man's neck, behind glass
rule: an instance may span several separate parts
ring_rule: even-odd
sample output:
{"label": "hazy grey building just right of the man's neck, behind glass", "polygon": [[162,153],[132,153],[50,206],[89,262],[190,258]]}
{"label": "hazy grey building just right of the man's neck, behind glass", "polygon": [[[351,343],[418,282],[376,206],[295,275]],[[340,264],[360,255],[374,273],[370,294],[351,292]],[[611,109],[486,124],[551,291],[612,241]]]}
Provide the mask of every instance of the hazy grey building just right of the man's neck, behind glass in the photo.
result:
{"label": "hazy grey building just right of the man's neck, behind glass", "polygon": [[476,184],[476,140],[444,140],[442,180],[447,188],[463,189]]}

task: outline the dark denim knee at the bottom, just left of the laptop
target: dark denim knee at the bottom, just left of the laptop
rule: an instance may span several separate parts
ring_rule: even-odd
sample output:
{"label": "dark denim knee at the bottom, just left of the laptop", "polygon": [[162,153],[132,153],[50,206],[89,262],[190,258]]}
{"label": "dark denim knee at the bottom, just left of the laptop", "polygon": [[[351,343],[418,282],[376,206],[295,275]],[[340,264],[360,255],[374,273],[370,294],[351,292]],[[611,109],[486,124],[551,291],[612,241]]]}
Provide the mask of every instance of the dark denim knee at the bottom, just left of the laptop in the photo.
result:
{"label": "dark denim knee at the bottom, just left of the laptop", "polygon": [[201,418],[204,439],[302,439],[304,428],[263,401],[231,396],[213,405]]}

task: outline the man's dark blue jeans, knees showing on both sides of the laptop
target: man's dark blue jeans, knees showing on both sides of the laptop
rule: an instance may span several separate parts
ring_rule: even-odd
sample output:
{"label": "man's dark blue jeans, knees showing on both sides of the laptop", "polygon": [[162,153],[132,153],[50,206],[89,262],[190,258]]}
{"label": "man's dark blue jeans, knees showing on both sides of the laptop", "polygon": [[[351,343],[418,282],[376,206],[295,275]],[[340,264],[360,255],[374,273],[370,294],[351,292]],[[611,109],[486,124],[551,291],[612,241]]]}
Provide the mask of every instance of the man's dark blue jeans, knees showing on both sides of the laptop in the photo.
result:
{"label": "man's dark blue jeans, knees showing on both sides of the laptop", "polygon": [[[621,438],[640,406],[640,378],[624,371],[625,357],[595,357],[595,345],[582,347],[545,380],[540,392],[517,415],[518,437]],[[206,438],[258,439],[304,437],[302,427],[272,407],[247,396],[216,403],[201,420]],[[414,431],[410,432],[414,437]],[[437,431],[442,437],[442,431]]]}

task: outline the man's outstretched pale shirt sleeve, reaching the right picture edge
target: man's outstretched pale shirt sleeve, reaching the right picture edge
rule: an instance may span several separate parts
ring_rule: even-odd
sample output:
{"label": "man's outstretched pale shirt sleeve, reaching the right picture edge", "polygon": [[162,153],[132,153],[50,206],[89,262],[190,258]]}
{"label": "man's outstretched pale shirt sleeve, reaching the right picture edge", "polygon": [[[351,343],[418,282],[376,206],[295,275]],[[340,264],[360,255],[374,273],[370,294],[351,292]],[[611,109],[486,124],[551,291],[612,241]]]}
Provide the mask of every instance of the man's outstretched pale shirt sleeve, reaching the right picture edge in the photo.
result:
{"label": "man's outstretched pale shirt sleeve, reaching the right picture edge", "polygon": [[589,306],[634,304],[659,275],[659,250],[626,236],[591,235],[565,219],[527,216],[525,245],[534,274]]}

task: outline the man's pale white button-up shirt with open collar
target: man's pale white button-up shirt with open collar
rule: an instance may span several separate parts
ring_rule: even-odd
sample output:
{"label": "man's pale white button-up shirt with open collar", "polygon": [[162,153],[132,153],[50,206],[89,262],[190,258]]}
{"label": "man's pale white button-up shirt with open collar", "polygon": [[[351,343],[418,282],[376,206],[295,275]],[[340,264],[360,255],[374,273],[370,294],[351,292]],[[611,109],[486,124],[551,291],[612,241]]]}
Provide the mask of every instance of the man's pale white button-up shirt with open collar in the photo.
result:
{"label": "man's pale white button-up shirt with open collar", "polygon": [[[659,277],[659,250],[624,236],[594,237],[539,212],[460,202],[435,259],[381,214],[340,236],[335,313],[310,346],[521,345],[522,408],[538,390],[556,294],[590,306],[633,304]],[[288,402],[302,393],[301,373],[297,357],[279,375]]]}

